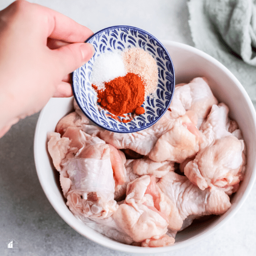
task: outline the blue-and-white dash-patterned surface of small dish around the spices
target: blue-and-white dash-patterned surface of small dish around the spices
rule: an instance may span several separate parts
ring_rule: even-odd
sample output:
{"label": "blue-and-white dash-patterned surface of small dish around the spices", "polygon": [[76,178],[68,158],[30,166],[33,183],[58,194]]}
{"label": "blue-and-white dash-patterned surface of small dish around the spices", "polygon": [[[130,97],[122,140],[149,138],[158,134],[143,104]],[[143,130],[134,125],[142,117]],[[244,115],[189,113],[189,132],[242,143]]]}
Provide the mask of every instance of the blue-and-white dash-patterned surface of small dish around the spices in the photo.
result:
{"label": "blue-and-white dash-patterned surface of small dish around the spices", "polygon": [[[163,116],[169,107],[175,88],[175,75],[172,60],[163,45],[149,33],[131,26],[113,26],[103,29],[86,41],[93,44],[95,54],[84,66],[73,72],[73,93],[83,113],[94,123],[109,131],[128,133],[148,128]],[[91,86],[91,75],[95,59],[102,53],[116,50],[124,51],[131,47],[139,47],[148,52],[158,67],[158,85],[154,98],[147,97],[143,103],[145,113],[135,116],[125,114],[131,122],[119,122],[101,108],[97,101],[97,93]],[[120,117],[122,120],[123,117]]]}

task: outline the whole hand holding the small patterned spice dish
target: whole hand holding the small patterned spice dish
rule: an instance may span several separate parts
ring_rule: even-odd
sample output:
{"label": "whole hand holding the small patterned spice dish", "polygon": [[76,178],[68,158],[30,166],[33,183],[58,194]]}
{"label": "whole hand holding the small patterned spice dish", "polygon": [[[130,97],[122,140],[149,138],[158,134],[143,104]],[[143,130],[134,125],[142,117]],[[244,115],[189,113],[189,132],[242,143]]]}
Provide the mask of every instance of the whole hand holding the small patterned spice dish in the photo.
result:
{"label": "whole hand holding the small patterned spice dish", "polygon": [[0,11],[0,137],[52,97],[72,96],[69,74],[93,56],[85,26],[18,0]]}

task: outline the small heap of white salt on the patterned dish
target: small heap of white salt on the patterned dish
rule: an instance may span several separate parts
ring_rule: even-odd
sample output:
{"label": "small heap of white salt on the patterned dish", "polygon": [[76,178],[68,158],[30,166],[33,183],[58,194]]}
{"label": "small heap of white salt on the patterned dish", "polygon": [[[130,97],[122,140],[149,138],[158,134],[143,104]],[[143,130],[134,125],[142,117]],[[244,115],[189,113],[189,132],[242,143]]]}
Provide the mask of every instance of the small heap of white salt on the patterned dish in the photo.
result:
{"label": "small heap of white salt on the patterned dish", "polygon": [[104,82],[126,74],[122,55],[119,52],[105,52],[93,63],[91,83],[95,84],[98,90],[104,90]]}

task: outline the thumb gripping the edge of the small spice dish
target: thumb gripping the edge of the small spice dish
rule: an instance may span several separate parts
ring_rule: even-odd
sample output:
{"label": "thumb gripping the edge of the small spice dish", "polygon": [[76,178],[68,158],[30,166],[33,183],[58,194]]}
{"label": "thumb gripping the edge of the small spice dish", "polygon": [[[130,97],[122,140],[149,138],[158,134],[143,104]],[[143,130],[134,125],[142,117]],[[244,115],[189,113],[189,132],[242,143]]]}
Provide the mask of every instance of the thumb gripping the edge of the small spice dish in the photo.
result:
{"label": "thumb gripping the edge of the small spice dish", "polygon": [[89,43],[73,43],[53,50],[60,61],[64,75],[67,75],[74,70],[84,65],[92,58],[95,49]]}

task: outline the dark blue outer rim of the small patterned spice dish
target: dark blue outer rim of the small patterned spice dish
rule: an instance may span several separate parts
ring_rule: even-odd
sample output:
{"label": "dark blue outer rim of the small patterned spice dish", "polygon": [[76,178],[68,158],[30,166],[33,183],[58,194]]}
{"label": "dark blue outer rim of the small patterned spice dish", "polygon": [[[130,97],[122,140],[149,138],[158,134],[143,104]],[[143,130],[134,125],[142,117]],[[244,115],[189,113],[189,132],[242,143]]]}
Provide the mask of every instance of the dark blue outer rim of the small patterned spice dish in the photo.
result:
{"label": "dark blue outer rim of the small patterned spice dish", "polygon": [[[75,72],[76,70],[78,70],[78,69],[74,70],[74,71],[71,73],[71,82],[72,82],[72,83],[71,83],[71,87],[72,87],[72,91],[73,91],[73,96],[74,96],[74,98],[76,99],[76,103],[77,103],[77,105],[79,106],[79,108],[81,109],[81,111],[84,113],[84,115],[87,116],[87,118],[90,119],[90,121],[92,121],[94,124],[98,125],[99,127],[103,128],[103,129],[105,129],[105,130],[108,130],[108,131],[112,131],[112,132],[116,132],[116,133],[122,133],[122,134],[125,134],[125,133],[132,133],[132,132],[137,132],[137,131],[142,131],[142,130],[144,130],[145,128],[149,128],[151,125],[154,125],[154,124],[164,115],[164,113],[167,111],[167,109],[169,108],[169,105],[170,105],[171,102],[172,102],[172,98],[173,98],[174,90],[175,90],[175,69],[174,69],[174,65],[173,65],[173,62],[172,62],[172,58],[171,58],[169,52],[167,51],[166,47],[163,45],[163,43],[162,43],[159,39],[157,39],[156,37],[154,37],[154,35],[151,35],[149,32],[147,32],[147,31],[145,31],[145,30],[143,30],[143,29],[137,28],[137,27],[135,27],[135,26],[126,26],[126,25],[109,26],[109,27],[104,28],[104,29],[101,29],[101,30],[97,31],[96,33],[94,33],[93,35],[91,35],[89,38],[87,38],[87,40],[85,41],[85,43],[87,43],[88,41],[90,41],[90,39],[96,37],[98,34],[104,32],[104,31],[106,31],[106,30],[115,29],[115,28],[116,28],[116,29],[120,29],[120,28],[129,28],[129,29],[136,29],[136,30],[138,30],[138,31],[141,31],[141,32],[143,32],[143,33],[149,35],[151,38],[154,38],[154,40],[165,50],[166,55],[167,55],[167,56],[169,57],[169,59],[170,59],[170,64],[171,64],[172,70],[173,70],[173,93],[172,93],[172,96],[171,96],[171,99],[170,99],[170,101],[169,101],[168,106],[165,106],[165,109],[163,110],[163,112],[161,113],[161,115],[160,115],[160,116],[157,116],[157,119],[155,119],[153,122],[151,122],[151,123],[150,123],[149,125],[147,125],[146,127],[143,126],[143,127],[141,127],[141,128],[137,128],[136,130],[125,130],[125,131],[123,131],[123,130],[115,130],[115,129],[112,129],[112,128],[111,128],[111,129],[110,129],[110,128],[106,128],[105,126],[100,125],[99,123],[95,122],[95,120],[93,120],[93,119],[90,117],[90,115],[88,115],[88,114],[83,110],[83,108],[81,108],[81,106],[80,106],[80,104],[79,104],[79,101],[78,101],[78,99],[77,99],[77,97],[76,97],[76,91],[75,91],[74,84],[73,84],[74,72]],[[92,57],[92,58],[93,58],[93,57]],[[144,101],[144,102],[145,102],[145,101]]]}

